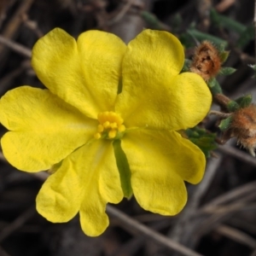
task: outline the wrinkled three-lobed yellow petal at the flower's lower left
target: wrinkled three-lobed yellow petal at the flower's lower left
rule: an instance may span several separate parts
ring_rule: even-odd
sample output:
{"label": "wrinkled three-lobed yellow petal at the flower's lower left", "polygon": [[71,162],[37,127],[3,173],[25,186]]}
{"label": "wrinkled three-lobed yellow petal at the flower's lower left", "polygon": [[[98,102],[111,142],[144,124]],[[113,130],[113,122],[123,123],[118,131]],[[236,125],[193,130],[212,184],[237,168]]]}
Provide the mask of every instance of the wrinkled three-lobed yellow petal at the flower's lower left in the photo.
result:
{"label": "wrinkled three-lobed yellow petal at the flower's lower left", "polygon": [[98,140],[63,160],[40,190],[37,208],[51,222],[66,222],[80,211],[84,233],[99,236],[108,227],[106,204],[122,198],[112,143]]}

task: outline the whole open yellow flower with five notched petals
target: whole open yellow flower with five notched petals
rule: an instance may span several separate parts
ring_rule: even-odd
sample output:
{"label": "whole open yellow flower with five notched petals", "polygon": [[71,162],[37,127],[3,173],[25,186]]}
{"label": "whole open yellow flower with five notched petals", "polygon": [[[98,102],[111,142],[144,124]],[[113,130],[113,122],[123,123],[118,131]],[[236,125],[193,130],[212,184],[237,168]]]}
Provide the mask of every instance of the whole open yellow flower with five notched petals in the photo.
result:
{"label": "whole open yellow flower with five notched petals", "polygon": [[[201,181],[205,158],[177,131],[200,122],[212,101],[199,75],[179,74],[183,61],[183,46],[168,32],[145,30],[128,46],[97,31],[76,42],[55,29],[38,40],[32,67],[49,90],[10,90],[0,121],[9,129],[1,143],[13,166],[54,166],[37,197],[40,214],[67,222],[79,212],[84,233],[98,236],[108,226],[106,204],[128,197],[130,182],[144,209],[181,211],[184,181]],[[117,167],[124,152],[127,177]]]}

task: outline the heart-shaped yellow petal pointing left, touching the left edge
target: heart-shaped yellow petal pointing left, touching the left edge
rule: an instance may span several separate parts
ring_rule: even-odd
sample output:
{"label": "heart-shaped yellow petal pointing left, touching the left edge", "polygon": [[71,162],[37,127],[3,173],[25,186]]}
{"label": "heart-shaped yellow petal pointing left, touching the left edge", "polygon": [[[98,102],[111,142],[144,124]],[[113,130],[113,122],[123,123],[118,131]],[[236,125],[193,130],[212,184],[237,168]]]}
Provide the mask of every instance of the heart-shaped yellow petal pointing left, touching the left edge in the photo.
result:
{"label": "heart-shaped yellow petal pointing left, touching the left edge", "polygon": [[29,86],[1,98],[0,122],[10,130],[1,140],[4,156],[27,172],[47,170],[64,159],[93,137],[97,124],[49,90]]}

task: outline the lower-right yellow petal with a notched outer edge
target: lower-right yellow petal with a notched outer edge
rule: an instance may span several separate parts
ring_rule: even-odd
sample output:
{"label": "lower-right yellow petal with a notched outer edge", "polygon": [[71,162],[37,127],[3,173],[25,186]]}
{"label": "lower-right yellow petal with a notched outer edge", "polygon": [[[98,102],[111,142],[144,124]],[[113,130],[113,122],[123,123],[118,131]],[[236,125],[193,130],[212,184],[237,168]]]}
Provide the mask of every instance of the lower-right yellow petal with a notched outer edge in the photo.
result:
{"label": "lower-right yellow petal with a notched outer edge", "polygon": [[183,180],[198,183],[206,160],[201,150],[175,131],[137,130],[125,134],[122,148],[131,168],[131,186],[145,210],[180,212],[187,191]]}

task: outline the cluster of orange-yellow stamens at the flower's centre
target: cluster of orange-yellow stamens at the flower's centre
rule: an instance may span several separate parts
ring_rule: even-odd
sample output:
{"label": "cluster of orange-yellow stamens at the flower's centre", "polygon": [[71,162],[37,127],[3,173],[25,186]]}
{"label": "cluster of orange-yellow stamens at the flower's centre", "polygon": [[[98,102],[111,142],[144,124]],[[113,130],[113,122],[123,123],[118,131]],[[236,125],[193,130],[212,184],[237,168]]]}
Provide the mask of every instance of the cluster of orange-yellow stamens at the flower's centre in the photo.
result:
{"label": "cluster of orange-yellow stamens at the flower's centre", "polygon": [[98,125],[97,132],[94,135],[96,139],[114,139],[123,136],[125,131],[124,119],[118,113],[113,111],[98,113],[98,120],[100,125]]}

